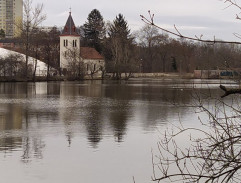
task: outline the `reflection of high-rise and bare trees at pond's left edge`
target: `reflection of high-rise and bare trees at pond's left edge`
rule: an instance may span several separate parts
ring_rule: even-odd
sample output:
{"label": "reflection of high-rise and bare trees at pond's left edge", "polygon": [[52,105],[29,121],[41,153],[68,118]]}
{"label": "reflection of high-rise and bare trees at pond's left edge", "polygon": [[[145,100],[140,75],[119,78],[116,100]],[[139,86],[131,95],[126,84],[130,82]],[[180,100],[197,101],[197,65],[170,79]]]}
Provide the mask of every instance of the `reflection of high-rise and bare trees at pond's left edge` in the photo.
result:
{"label": "reflection of high-rise and bare trees at pond's left edge", "polygon": [[[0,138],[0,151],[12,152],[22,147],[21,158],[25,163],[31,158],[43,157],[45,144],[38,132],[42,128],[42,119],[52,122],[58,116],[57,111],[43,109],[38,103],[41,101],[38,97],[44,96],[47,91],[50,95],[57,94],[57,87],[55,90],[47,88],[45,83],[0,83],[0,94],[5,96],[0,105],[0,131],[3,134],[10,132]],[[20,134],[18,130],[21,130]]]}

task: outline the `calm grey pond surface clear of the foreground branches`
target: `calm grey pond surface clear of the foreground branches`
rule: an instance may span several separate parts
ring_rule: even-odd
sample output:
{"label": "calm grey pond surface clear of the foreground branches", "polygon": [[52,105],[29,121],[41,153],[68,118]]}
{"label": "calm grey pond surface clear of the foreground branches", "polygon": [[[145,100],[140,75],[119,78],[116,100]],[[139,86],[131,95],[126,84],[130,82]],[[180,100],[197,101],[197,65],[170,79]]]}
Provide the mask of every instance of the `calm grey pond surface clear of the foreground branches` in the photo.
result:
{"label": "calm grey pond surface clear of the foreground branches", "polygon": [[221,82],[231,81],[0,83],[1,181],[151,182],[160,132],[200,125],[193,93],[219,97]]}

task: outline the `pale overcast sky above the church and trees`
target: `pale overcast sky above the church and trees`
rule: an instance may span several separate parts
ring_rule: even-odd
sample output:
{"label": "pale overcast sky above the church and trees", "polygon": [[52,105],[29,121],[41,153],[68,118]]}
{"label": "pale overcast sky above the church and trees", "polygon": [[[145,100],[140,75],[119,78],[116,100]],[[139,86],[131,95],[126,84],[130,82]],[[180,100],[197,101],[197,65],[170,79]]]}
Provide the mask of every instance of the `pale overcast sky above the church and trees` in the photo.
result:
{"label": "pale overcast sky above the church and trees", "polygon": [[[236,0],[240,2],[241,0]],[[64,26],[71,7],[76,26],[83,25],[92,9],[98,9],[105,21],[113,21],[123,14],[132,31],[143,27],[140,14],[155,14],[155,23],[182,34],[212,39],[240,41],[233,33],[241,34],[241,21],[235,19],[240,11],[235,7],[225,9],[224,0],[33,0],[43,3],[47,20],[43,25]]]}

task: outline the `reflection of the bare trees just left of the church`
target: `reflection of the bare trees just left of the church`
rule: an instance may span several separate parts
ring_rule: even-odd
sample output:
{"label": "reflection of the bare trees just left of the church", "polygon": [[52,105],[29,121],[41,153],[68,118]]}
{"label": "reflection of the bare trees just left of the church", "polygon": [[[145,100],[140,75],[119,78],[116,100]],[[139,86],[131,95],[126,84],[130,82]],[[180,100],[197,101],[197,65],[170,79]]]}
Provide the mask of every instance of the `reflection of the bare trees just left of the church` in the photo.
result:
{"label": "reflection of the bare trees just left of the church", "polygon": [[[27,85],[26,96],[27,99],[38,99],[36,95],[40,95],[45,99],[45,95],[47,97],[52,95],[59,95],[60,87],[59,83],[35,83]],[[33,99],[32,99],[33,97]],[[41,100],[41,99],[38,99]],[[49,101],[50,102],[50,101]],[[43,148],[45,147],[45,143],[41,138],[41,134],[38,132],[42,126],[42,119],[46,121],[55,121],[58,118],[58,112],[56,110],[49,110],[49,106],[47,108],[43,108],[44,106],[39,106],[38,102],[35,103],[26,103],[23,107],[23,124],[22,128],[25,132],[25,136],[23,136],[23,155],[22,161],[24,163],[28,163],[32,157],[37,159],[43,158]]]}

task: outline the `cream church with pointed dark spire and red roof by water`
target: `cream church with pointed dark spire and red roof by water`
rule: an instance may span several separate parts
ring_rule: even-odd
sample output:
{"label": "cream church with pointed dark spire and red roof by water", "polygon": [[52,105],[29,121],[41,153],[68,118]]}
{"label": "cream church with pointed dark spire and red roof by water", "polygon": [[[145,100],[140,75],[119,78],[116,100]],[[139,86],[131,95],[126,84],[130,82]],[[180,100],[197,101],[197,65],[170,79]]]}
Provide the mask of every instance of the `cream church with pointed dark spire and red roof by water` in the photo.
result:
{"label": "cream church with pointed dark spire and red roof by water", "polygon": [[81,47],[80,35],[75,27],[71,12],[60,35],[60,68],[62,74],[70,72],[72,62],[81,63],[85,77],[101,77],[105,60],[95,48]]}

